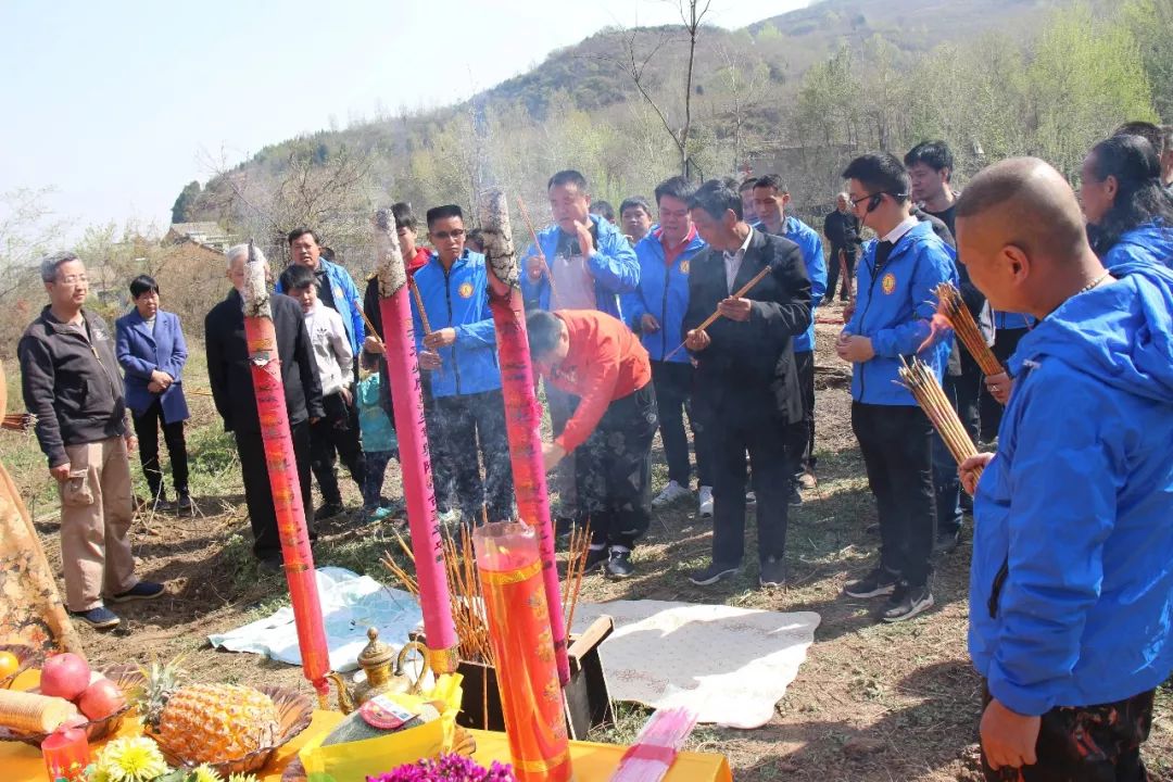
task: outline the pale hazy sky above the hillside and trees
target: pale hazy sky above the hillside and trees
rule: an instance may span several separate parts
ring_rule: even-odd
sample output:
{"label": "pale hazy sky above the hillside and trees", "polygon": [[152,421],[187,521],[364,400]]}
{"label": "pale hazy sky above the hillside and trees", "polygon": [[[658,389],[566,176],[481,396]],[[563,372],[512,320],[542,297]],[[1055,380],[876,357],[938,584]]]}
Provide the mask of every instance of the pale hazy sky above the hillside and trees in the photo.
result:
{"label": "pale hazy sky above the hillside and trees", "polygon": [[[712,0],[706,21],[805,5]],[[50,188],[75,234],[165,230],[188,182],[266,144],[463,100],[603,27],[673,21],[672,0],[0,0],[0,193]]]}

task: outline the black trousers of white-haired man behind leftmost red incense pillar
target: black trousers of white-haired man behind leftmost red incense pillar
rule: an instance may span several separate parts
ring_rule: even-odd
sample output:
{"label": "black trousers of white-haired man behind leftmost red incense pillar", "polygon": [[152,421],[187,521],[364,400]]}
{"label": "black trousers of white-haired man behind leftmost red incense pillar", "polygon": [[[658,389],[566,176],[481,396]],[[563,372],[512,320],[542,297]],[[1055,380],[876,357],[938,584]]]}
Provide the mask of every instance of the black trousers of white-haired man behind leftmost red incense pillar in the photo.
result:
{"label": "black trousers of white-haired man behind leftmost red incense pillar", "polygon": [[[273,508],[273,490],[269,485],[269,465],[265,463],[265,444],[259,431],[237,431],[236,453],[240,456],[244,474],[244,501],[249,506],[252,524],[252,552],[258,559],[280,559],[282,540],[277,532],[277,511]],[[290,426],[293,437],[293,457],[297,460],[297,476],[301,483],[301,508],[305,509],[305,529],[310,539],[317,537],[313,529],[313,498],[310,494],[310,422]]]}

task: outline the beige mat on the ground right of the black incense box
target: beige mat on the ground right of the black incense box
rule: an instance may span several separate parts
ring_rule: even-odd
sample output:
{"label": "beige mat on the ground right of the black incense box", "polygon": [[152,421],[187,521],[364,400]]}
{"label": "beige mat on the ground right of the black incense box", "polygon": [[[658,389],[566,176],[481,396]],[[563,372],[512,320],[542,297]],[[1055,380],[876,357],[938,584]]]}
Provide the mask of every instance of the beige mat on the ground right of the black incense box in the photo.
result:
{"label": "beige mat on the ground right of the black incense box", "polygon": [[701,722],[731,728],[769,721],[820,620],[813,612],[615,600],[579,604],[575,632],[603,614],[615,619],[601,648],[612,699],[686,706]]}

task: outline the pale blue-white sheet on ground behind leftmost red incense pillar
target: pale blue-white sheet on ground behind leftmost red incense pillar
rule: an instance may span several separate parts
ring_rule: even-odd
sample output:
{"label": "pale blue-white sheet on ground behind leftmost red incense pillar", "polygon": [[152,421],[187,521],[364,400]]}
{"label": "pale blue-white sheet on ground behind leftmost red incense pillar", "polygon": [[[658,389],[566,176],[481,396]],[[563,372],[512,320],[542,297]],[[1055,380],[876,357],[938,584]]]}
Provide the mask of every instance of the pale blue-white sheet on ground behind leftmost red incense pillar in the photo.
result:
{"label": "pale blue-white sheet on ground behind leftmost red incense pillar", "polygon": [[[379,640],[398,650],[422,621],[415,598],[402,590],[384,586],[369,576],[359,576],[344,567],[319,567],[317,576],[330,667],[334,671],[358,668],[359,652],[367,645],[368,627],[378,627]],[[230,652],[252,652],[301,665],[292,606],[244,627],[209,635],[208,640]]]}

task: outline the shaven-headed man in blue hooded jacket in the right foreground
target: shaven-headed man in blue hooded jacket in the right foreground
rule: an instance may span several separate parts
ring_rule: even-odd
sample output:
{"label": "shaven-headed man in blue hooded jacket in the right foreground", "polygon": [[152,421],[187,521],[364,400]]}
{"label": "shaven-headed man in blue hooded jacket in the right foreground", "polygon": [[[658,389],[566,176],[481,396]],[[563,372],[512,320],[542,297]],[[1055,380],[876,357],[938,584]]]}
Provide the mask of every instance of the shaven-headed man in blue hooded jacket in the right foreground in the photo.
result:
{"label": "shaven-headed man in blue hooded jacket in the right foreground", "polygon": [[961,470],[976,484],[986,778],[1146,780],[1140,744],[1173,668],[1173,273],[1110,274],[1071,188],[1036,158],[974,178],[957,238],[991,306],[1039,319],[1010,360],[997,455]]}

